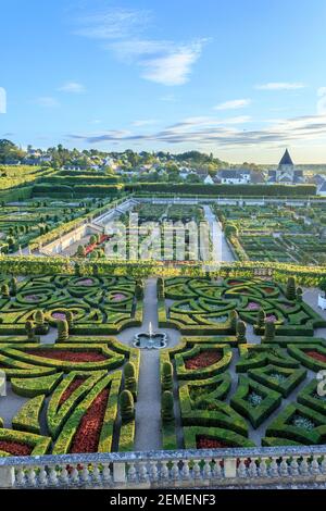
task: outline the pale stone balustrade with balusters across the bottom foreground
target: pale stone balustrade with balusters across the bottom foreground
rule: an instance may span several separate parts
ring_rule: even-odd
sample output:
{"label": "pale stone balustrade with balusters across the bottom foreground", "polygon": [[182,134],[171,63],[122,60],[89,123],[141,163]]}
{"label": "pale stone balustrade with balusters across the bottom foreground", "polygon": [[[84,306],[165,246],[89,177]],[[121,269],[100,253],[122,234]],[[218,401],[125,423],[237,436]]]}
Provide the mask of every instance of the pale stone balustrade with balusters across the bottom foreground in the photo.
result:
{"label": "pale stone balustrade with balusters across the bottom foreground", "polygon": [[2,488],[326,484],[326,446],[0,458]]}

